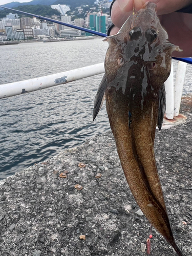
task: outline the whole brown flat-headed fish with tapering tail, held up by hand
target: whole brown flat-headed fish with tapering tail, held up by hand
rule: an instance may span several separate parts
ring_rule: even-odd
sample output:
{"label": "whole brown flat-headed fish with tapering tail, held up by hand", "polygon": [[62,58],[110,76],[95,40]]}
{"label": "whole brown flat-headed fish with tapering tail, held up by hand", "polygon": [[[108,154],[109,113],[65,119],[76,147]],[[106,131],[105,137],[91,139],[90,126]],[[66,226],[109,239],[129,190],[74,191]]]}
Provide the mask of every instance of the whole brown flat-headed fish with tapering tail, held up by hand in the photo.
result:
{"label": "whole brown flat-headed fish with tapering tail, held up by hand", "polygon": [[152,2],[131,14],[116,35],[103,41],[109,47],[93,120],[105,99],[131,192],[148,221],[182,256],[170,227],[154,153],[156,126],[160,131],[165,113],[164,82],[170,74],[172,53],[182,50],[168,41]]}

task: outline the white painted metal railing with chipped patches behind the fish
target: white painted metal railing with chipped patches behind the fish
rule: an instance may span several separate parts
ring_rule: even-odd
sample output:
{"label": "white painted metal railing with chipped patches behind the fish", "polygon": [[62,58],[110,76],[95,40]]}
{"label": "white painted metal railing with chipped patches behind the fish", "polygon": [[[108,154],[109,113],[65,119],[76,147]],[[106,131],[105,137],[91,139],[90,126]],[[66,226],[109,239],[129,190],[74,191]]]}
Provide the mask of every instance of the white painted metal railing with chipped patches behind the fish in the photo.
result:
{"label": "white painted metal railing with chipped patches behind the fish", "polygon": [[[179,115],[186,65],[187,64],[185,62],[179,61],[176,83],[174,87],[174,73],[172,63],[172,70],[170,76],[165,82],[167,119],[173,119],[174,116]],[[0,99],[58,86],[59,84],[65,84],[102,73],[104,73],[104,63],[99,63],[96,65],[49,76],[38,77],[2,85],[0,84]]]}

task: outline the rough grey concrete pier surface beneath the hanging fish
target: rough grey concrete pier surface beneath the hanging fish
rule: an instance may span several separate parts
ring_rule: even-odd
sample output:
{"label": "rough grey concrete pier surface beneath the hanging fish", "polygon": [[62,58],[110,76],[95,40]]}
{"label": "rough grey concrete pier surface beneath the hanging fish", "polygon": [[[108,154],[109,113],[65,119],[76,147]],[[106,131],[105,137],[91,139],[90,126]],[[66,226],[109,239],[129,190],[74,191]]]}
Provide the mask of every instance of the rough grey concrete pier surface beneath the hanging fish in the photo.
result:
{"label": "rough grey concrete pier surface beneath the hanging fish", "polygon": [[[186,97],[186,122],[155,139],[170,223],[185,256],[192,255],[191,110]],[[1,180],[0,191],[2,256],[146,255],[151,225],[138,211],[111,132]],[[152,234],[151,255],[176,255],[154,228]]]}

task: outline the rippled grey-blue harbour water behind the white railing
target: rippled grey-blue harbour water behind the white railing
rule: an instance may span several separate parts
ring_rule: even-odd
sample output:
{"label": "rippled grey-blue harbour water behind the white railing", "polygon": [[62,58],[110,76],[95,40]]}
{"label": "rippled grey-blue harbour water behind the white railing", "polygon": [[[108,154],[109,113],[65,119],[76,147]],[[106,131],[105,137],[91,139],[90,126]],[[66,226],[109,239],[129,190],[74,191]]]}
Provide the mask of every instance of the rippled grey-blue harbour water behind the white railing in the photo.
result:
{"label": "rippled grey-blue harbour water behind the white railing", "polygon": [[[0,46],[0,86],[103,62],[107,47],[101,39]],[[188,65],[183,94],[191,73]],[[108,131],[104,105],[92,121],[101,78],[0,99],[0,179]]]}

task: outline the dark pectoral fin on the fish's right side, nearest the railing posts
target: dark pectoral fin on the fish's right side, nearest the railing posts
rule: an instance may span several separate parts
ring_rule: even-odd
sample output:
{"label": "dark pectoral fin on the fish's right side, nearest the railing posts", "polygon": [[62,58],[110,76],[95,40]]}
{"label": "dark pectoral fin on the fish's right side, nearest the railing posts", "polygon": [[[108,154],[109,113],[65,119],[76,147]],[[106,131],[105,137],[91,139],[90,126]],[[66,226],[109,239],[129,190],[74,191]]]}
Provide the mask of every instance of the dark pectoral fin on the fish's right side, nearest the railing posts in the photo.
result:
{"label": "dark pectoral fin on the fish's right side, nearest the railing posts", "polygon": [[159,90],[159,108],[158,108],[158,119],[157,119],[157,126],[159,128],[159,131],[161,131],[161,126],[163,124],[163,117],[165,114],[166,109],[166,101],[165,101],[165,85],[160,87]]}

